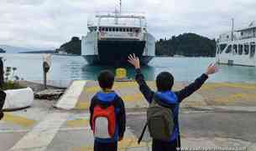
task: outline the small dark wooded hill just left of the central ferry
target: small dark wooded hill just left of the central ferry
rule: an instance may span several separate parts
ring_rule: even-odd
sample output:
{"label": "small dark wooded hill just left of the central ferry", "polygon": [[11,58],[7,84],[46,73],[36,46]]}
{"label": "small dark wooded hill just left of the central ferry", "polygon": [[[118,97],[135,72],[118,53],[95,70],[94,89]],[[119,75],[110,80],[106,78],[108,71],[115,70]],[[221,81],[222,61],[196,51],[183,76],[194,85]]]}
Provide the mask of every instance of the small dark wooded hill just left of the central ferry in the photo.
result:
{"label": "small dark wooded hill just left of the central ferry", "polygon": [[64,43],[60,46],[60,48],[56,49],[56,53],[68,53],[68,54],[76,54],[81,55],[81,40],[77,37],[71,38],[71,41],[68,43]]}

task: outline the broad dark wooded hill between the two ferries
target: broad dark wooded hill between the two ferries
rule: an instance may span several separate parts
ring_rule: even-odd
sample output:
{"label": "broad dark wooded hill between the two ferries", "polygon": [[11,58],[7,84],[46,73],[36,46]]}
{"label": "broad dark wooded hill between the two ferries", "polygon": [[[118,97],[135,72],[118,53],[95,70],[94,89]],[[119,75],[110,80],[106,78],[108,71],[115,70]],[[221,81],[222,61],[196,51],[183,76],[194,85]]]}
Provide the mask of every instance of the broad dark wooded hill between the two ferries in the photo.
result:
{"label": "broad dark wooded hill between the two ferries", "polygon": [[184,33],[170,39],[159,39],[156,42],[156,55],[185,57],[214,57],[216,41],[196,33]]}

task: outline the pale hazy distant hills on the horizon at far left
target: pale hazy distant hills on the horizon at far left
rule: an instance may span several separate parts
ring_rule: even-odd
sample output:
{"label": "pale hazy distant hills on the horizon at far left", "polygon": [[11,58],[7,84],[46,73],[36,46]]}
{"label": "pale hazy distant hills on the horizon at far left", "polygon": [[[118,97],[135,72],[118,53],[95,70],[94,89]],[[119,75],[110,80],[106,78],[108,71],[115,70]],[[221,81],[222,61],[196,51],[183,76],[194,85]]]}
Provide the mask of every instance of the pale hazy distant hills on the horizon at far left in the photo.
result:
{"label": "pale hazy distant hills on the horizon at far left", "polygon": [[[45,48],[21,48],[21,47],[15,47],[15,46],[9,46],[9,45],[1,45],[0,44],[0,48],[3,48],[6,53],[22,53],[22,52],[35,52],[35,51],[44,51]],[[50,48],[50,49],[54,49],[54,48]],[[46,50],[49,50],[49,48],[47,48]]]}

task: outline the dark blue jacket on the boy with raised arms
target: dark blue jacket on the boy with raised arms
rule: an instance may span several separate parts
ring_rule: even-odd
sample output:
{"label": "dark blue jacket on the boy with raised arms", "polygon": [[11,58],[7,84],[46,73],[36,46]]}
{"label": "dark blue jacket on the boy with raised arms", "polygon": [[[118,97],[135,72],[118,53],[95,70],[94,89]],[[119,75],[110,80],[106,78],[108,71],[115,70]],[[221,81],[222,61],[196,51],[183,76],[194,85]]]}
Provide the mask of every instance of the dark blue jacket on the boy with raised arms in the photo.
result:
{"label": "dark blue jacket on the boy with raised arms", "polygon": [[[136,81],[139,85],[139,90],[141,93],[144,94],[144,98],[151,103],[153,98],[159,99],[161,103],[167,103],[168,106],[171,106],[171,110],[174,113],[174,122],[175,122],[175,128],[174,133],[172,134],[170,138],[170,142],[176,140],[179,137],[180,134],[180,128],[179,128],[179,105],[182,102],[183,99],[190,96],[192,93],[195,93],[196,90],[201,88],[202,84],[205,83],[208,76],[206,74],[202,74],[201,77],[196,78],[196,81],[194,83],[191,83],[189,86],[181,89],[177,92],[172,91],[166,91],[166,92],[157,92],[154,93],[147,83],[144,80],[144,75],[141,73],[140,69],[136,69]],[[154,99],[155,99],[154,98]]]}

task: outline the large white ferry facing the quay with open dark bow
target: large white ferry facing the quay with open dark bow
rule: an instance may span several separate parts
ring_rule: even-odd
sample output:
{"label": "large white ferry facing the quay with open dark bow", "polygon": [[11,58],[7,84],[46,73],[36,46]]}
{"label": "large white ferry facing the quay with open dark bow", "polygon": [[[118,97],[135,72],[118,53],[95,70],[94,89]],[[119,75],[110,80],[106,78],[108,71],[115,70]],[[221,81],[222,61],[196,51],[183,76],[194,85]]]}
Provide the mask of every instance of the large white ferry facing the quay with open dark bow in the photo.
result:
{"label": "large white ferry facing the quay with open dark bow", "polygon": [[[96,20],[95,20],[96,19]],[[155,55],[155,38],[148,33],[144,15],[134,13],[99,13],[87,23],[89,32],[81,38],[81,55],[90,64],[127,63],[135,53],[142,64]]]}

